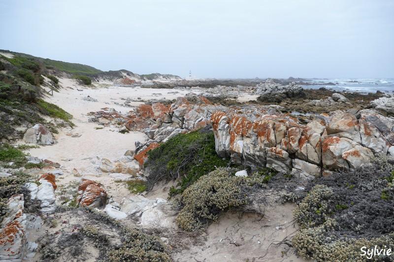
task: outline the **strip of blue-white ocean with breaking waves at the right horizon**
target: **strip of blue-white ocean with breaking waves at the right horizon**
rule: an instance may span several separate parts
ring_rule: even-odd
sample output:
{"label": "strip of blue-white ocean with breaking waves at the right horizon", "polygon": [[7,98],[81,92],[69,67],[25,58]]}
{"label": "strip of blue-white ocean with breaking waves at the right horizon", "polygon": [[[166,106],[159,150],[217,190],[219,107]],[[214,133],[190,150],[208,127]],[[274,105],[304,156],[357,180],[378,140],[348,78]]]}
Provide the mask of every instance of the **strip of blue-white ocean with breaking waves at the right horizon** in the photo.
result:
{"label": "strip of blue-white ocean with breaking waves at the right horizon", "polygon": [[[325,85],[325,83],[334,83],[336,85]],[[337,91],[357,91],[361,93],[375,93],[377,90],[385,93],[394,93],[394,78],[333,78],[333,79],[308,79],[304,83],[313,83],[316,85],[301,85],[304,88],[318,89],[326,87]],[[321,83],[321,84],[320,84]]]}

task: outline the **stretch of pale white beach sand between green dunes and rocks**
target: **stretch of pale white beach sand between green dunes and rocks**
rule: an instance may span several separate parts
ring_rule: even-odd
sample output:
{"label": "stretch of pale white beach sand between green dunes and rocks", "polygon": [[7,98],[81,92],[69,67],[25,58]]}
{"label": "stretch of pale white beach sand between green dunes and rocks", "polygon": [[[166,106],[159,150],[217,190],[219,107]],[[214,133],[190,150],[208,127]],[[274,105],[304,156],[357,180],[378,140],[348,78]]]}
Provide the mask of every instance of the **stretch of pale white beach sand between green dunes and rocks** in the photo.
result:
{"label": "stretch of pale white beach sand between green dunes and rocks", "polygon": [[[40,148],[30,149],[28,152],[39,158],[46,158],[62,165],[76,168],[81,174],[97,174],[92,168],[91,160],[98,158],[108,158],[111,161],[118,160],[128,149],[134,149],[134,142],[143,142],[146,136],[141,132],[130,132],[121,134],[117,128],[104,128],[96,130],[97,123],[88,122],[89,112],[99,111],[101,108],[113,108],[118,112],[128,112],[132,108],[116,105],[114,102],[124,104],[126,100],[121,98],[142,100],[148,99],[174,99],[184,96],[190,91],[179,91],[177,94],[168,94],[172,89],[152,89],[140,87],[107,87],[107,88],[86,88],[79,86],[75,80],[60,79],[62,88],[60,92],[54,92],[53,96],[48,95],[46,101],[56,104],[73,115],[72,121],[76,126],[71,130],[72,133],[80,134],[81,137],[66,136],[69,129],[61,130],[56,135],[58,143],[53,146],[41,146]],[[97,84],[96,86],[100,86]],[[73,89],[71,89],[71,88]],[[82,89],[78,91],[77,89]],[[193,92],[197,92],[192,90]],[[157,95],[161,94],[161,95]],[[82,98],[90,96],[98,102],[89,102]],[[138,106],[142,102],[131,102],[131,105]],[[101,127],[101,126],[100,126]],[[64,159],[72,159],[65,161]]]}

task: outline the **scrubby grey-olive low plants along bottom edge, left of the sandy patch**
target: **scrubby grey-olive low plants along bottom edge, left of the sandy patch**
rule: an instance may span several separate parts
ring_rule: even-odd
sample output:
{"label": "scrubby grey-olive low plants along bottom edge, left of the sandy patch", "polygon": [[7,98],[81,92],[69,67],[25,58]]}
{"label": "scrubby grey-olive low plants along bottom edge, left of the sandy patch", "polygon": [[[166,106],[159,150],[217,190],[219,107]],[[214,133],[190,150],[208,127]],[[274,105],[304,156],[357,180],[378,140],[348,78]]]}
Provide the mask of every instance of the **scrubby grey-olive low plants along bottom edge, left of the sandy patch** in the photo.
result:
{"label": "scrubby grey-olive low plants along bottom edge, left of the sandy patch", "polygon": [[[61,234],[46,234],[40,239],[41,259],[91,259],[87,246],[93,245],[97,261],[170,262],[168,248],[154,236],[131,229],[94,208],[58,207],[58,214],[84,217],[86,224],[70,225]],[[51,223],[51,222],[49,222]],[[93,226],[95,225],[95,226]],[[116,241],[113,241],[116,235]],[[96,251],[95,251],[96,252]]]}

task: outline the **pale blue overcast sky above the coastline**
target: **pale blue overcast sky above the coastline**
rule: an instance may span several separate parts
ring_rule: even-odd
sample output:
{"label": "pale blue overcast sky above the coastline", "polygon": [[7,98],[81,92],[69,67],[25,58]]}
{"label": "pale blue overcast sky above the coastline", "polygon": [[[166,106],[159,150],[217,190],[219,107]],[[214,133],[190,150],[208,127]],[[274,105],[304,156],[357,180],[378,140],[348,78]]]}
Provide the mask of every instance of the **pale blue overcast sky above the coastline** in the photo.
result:
{"label": "pale blue overcast sky above the coastline", "polygon": [[0,0],[0,49],[197,78],[394,78],[393,0]]}

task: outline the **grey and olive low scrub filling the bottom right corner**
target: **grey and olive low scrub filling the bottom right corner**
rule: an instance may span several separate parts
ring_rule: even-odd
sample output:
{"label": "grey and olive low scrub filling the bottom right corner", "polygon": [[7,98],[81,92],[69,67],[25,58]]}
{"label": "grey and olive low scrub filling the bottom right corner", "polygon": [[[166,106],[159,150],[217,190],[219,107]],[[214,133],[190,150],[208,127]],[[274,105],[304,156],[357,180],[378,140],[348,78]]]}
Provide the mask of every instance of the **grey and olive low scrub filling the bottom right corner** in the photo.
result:
{"label": "grey and olive low scrub filling the bottom right corner", "polygon": [[[361,247],[394,249],[394,159],[380,157],[370,167],[338,171],[310,182],[297,193],[293,237],[298,255],[314,261],[365,261]],[[374,261],[391,261],[378,256]]]}

